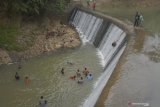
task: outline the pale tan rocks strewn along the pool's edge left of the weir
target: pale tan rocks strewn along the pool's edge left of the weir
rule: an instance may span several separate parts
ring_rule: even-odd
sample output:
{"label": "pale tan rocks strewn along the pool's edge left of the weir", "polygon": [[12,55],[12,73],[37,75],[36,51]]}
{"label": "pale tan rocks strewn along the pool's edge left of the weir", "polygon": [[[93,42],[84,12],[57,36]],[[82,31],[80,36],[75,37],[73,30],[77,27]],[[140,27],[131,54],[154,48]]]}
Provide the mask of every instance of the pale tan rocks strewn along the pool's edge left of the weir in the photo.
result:
{"label": "pale tan rocks strewn along the pool's edge left of the weir", "polygon": [[[25,38],[17,38],[17,41],[23,44]],[[80,39],[74,29],[69,25],[62,24],[61,20],[55,20],[54,24],[49,22],[44,31],[37,32],[33,45],[24,51],[0,49],[0,64],[26,60],[60,48],[75,48],[79,45]]]}

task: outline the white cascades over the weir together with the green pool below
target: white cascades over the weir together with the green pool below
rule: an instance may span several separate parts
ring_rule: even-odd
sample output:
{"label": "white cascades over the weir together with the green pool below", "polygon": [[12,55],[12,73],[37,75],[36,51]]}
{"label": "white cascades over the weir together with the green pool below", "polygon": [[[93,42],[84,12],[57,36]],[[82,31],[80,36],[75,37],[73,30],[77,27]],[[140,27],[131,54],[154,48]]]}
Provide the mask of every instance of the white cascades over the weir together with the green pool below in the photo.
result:
{"label": "white cascades over the weir together with the green pool below", "polygon": [[[126,47],[126,33],[111,22],[75,9],[70,17],[83,41],[76,50],[63,50],[22,63],[0,66],[0,106],[33,107],[44,95],[48,107],[93,107]],[[95,48],[96,47],[96,48]],[[60,70],[64,67],[65,75]],[[69,79],[87,67],[93,81],[79,85]],[[14,80],[19,72],[20,81]],[[28,75],[31,83],[24,85]],[[85,77],[84,77],[85,78]]]}

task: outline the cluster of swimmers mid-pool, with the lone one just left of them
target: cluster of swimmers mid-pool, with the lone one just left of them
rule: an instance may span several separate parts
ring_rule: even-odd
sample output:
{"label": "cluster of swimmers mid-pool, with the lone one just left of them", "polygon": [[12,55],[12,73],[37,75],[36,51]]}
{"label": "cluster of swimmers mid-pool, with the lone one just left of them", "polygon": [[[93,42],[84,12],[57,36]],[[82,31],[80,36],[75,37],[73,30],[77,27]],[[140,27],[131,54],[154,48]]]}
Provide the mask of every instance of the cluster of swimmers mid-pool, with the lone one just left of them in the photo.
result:
{"label": "cluster of swimmers mid-pool, with the lone one just left of them", "polygon": [[[64,68],[61,69],[61,74],[64,75]],[[77,79],[77,83],[78,84],[83,84],[84,79],[86,78],[87,80],[92,80],[93,76],[91,73],[89,73],[89,70],[87,68],[84,68],[84,70],[82,72],[80,72],[79,69],[77,69],[75,75],[70,76],[69,79],[71,80],[76,80]]]}

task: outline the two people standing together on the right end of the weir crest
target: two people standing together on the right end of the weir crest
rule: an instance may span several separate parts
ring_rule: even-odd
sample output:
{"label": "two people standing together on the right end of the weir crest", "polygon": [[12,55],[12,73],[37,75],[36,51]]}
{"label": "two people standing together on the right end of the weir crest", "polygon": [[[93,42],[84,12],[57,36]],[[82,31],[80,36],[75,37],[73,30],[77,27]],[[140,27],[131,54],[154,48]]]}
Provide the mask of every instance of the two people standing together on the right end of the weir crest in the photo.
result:
{"label": "two people standing together on the right end of the weir crest", "polygon": [[134,27],[143,26],[143,15],[140,12],[137,12],[135,15]]}

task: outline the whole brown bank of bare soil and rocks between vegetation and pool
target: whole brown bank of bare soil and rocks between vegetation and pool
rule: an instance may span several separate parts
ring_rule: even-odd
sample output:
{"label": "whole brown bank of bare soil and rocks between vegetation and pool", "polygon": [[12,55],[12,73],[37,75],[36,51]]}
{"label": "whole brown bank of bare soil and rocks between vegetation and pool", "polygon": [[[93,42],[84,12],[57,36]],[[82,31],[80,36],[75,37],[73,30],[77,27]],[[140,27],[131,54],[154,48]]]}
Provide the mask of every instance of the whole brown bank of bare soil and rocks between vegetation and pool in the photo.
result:
{"label": "whole brown bank of bare soil and rocks between vegetation and pool", "polygon": [[[0,48],[0,64],[26,60],[60,48],[75,48],[80,45],[76,31],[63,18],[50,17],[41,21],[17,22],[21,35],[16,41],[24,48],[21,51]],[[1,35],[3,36],[3,35]]]}

